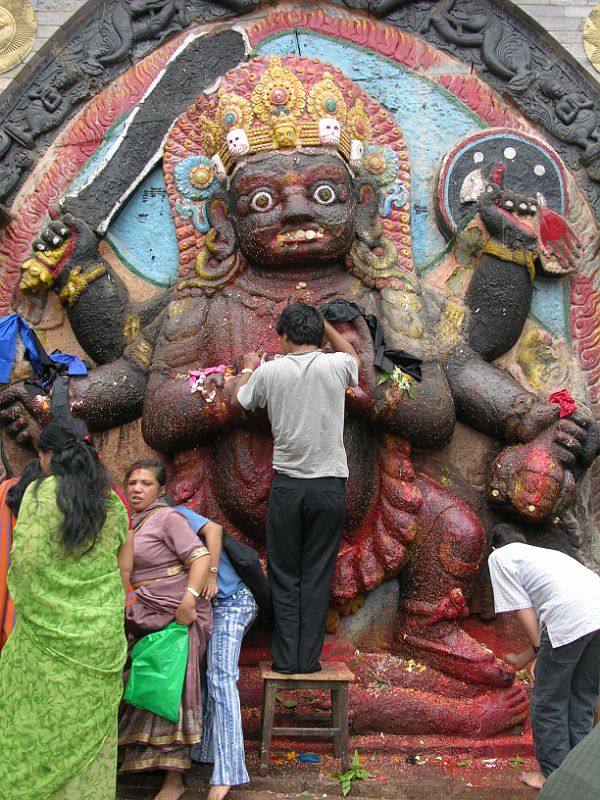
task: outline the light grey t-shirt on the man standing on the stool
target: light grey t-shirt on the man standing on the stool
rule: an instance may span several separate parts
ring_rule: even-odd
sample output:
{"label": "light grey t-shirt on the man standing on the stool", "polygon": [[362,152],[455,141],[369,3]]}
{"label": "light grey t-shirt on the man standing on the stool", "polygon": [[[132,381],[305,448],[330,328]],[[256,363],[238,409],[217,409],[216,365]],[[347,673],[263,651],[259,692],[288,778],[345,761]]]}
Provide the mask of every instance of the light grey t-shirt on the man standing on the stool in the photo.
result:
{"label": "light grey t-shirt on the man standing on the stool", "polygon": [[348,353],[289,353],[261,364],[238,391],[250,411],[266,408],[275,445],[273,468],[291,478],[347,478],[346,389],[358,383]]}

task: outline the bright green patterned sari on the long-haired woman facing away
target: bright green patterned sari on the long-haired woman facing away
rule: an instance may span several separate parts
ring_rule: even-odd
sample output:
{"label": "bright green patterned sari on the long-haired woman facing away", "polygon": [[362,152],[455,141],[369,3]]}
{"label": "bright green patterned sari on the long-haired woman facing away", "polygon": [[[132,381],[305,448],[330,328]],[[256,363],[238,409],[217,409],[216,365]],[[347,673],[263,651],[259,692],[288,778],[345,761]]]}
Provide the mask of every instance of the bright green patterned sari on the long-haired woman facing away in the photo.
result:
{"label": "bright green patterned sari on the long-haired woman facing away", "polygon": [[127,512],[111,493],[98,542],[81,557],[65,555],[61,521],[56,479],[30,486],[8,577],[17,622],[0,656],[0,795],[114,800]]}

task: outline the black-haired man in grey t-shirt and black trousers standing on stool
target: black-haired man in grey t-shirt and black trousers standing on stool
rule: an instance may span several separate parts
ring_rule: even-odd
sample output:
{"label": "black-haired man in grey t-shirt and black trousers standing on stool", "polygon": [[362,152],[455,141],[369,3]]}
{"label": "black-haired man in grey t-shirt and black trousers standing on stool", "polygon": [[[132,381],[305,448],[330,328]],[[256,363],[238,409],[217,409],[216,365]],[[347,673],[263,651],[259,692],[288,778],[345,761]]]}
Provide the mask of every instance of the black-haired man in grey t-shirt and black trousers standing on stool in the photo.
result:
{"label": "black-haired man in grey t-shirt and black trousers standing on stool", "polygon": [[[312,306],[287,306],[277,322],[284,358],[254,369],[244,357],[237,400],[265,408],[275,477],[267,515],[273,598],[273,669],[315,672],[344,525],[346,389],[358,383],[354,347]],[[333,353],[319,350],[323,335]]]}

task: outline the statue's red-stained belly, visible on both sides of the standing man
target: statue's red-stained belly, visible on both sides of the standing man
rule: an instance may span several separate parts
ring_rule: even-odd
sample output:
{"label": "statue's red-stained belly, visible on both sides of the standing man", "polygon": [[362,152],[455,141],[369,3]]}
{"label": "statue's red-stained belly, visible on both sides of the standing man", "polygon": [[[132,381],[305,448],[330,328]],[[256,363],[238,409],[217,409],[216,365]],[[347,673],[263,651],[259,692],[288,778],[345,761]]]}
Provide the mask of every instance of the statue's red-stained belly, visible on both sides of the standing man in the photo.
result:
{"label": "statue's red-stained belly, visible on both sides of the standing man", "polygon": [[[344,443],[350,472],[346,485],[346,529],[362,520],[377,481],[377,437],[362,421],[346,418]],[[273,440],[262,431],[237,429],[213,451],[215,497],[237,528],[263,542],[267,500],[273,479]]]}

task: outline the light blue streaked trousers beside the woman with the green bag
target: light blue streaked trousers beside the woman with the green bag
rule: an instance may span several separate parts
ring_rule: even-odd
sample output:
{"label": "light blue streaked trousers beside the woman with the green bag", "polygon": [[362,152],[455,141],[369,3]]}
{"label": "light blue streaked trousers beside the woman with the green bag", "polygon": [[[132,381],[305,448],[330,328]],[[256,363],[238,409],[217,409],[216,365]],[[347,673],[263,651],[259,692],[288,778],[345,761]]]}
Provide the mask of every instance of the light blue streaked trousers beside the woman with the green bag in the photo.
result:
{"label": "light blue streaked trousers beside the woman with the green bag", "polygon": [[258,607],[249,589],[213,600],[213,632],[207,655],[207,698],[204,737],[192,748],[195,761],[213,763],[212,786],[249,783],[240,711],[238,661],[242,639],[256,619]]}

